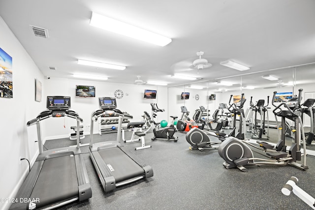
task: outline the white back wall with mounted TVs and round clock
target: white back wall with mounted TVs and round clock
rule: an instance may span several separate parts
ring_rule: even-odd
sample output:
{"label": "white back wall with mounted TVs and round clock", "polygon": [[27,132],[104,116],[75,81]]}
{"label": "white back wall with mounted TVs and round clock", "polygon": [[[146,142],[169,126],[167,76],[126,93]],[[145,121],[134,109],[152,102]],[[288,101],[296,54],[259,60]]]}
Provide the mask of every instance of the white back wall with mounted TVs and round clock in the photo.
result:
{"label": "white back wall with mounted TVs and round clock", "polygon": [[[57,85],[58,84],[58,85]],[[76,97],[76,85],[95,86],[95,97]],[[45,81],[44,98],[51,95],[64,95],[71,97],[71,109],[75,110],[83,119],[84,133],[90,133],[91,114],[98,109],[98,97],[114,97],[115,90],[122,90],[124,96],[116,99],[117,108],[133,116],[130,121],[142,121],[144,111],[151,114],[150,103],[157,103],[158,108],[165,109],[159,112],[156,121],[167,119],[167,88],[149,85],[128,85],[98,81],[71,80],[51,78]],[[144,98],[144,90],[157,90],[156,99]],[[44,139],[56,139],[69,136],[73,130],[71,126],[76,125],[76,120],[71,118],[48,119],[42,121]],[[65,125],[65,127],[63,127]],[[94,123],[94,133],[98,132],[98,123]]]}

